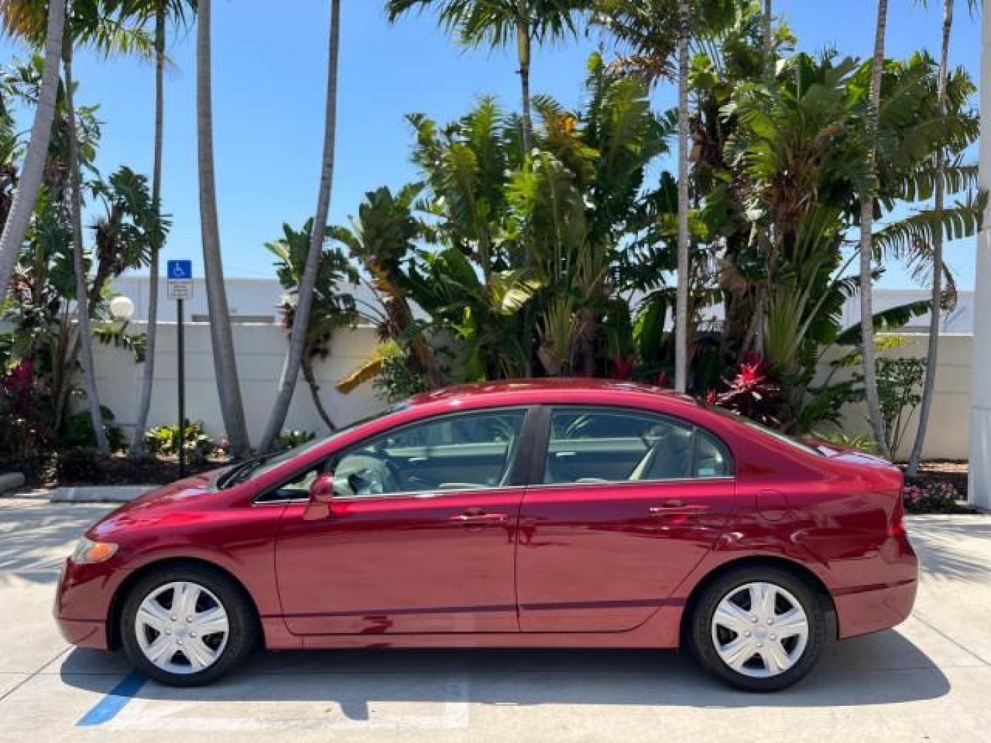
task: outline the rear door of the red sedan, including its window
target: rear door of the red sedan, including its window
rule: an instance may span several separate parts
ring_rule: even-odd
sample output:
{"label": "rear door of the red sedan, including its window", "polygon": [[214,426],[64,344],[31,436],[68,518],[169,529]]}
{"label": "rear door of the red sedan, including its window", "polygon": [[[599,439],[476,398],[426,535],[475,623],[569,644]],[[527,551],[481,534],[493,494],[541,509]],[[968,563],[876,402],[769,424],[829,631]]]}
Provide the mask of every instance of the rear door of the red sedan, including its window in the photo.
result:
{"label": "rear door of the red sedan, including its window", "polygon": [[519,517],[520,629],[632,629],[716,543],[734,501],[728,450],[689,422],[645,411],[560,407],[542,417],[543,478]]}

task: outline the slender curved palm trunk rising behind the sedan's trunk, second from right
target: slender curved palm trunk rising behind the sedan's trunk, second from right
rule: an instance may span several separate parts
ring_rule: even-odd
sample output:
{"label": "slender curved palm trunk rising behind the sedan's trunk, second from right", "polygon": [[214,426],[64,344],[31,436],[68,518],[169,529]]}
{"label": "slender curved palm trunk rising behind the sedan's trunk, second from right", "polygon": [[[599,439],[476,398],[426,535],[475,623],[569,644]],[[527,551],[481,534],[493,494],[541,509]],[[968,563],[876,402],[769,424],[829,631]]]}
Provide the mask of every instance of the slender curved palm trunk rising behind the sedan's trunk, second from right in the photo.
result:
{"label": "slender curved palm trunk rising behind the sedan's trunk, second from right", "polygon": [[[888,0],[878,0],[877,29],[874,37],[874,59],[871,64],[870,90],[867,100],[867,171],[875,175],[877,160],[878,109],[881,101],[881,71],[884,66],[884,34],[888,20]],[[877,373],[874,353],[874,309],[871,296],[871,257],[873,253],[874,186],[860,198],[860,333],[864,369],[864,398],[867,417],[874,432],[878,448],[889,459],[895,452],[889,451],[881,403],[877,393]]]}

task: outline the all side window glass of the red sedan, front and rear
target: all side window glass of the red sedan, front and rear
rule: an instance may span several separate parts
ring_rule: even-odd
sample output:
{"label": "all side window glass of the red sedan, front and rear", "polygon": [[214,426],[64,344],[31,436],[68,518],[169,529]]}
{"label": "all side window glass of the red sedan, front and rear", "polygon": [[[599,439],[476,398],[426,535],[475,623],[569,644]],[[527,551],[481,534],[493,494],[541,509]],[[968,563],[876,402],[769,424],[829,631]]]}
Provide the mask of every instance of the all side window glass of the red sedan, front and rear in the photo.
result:
{"label": "all side window glass of the red sedan, front and rear", "polygon": [[[450,415],[405,426],[341,455],[329,467],[339,497],[466,490],[508,484],[524,410]],[[300,499],[322,468],[266,500]],[[625,410],[559,408],[551,414],[545,484],[714,478],[731,475],[723,446],[691,424]]]}

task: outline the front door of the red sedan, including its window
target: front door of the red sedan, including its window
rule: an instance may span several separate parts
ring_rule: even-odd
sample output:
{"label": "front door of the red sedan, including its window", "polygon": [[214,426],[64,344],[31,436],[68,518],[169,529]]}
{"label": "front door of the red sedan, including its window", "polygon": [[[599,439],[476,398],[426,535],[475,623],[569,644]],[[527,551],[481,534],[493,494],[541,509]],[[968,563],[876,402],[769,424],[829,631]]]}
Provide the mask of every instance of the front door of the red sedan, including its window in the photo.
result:
{"label": "front door of the red sedan, including its window", "polygon": [[435,417],[328,463],[325,520],[292,504],[275,546],[297,634],[515,632],[513,559],[526,410]]}

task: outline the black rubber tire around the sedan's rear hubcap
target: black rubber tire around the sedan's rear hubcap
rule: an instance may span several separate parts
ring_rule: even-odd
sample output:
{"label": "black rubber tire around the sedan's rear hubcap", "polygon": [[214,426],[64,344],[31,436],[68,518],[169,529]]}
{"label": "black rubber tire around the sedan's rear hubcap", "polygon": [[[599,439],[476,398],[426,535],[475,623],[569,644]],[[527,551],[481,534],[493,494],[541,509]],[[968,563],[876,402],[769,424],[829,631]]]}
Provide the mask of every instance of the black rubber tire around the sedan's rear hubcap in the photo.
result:
{"label": "black rubber tire around the sedan's rear hubcap", "polygon": [[[798,600],[806,613],[809,636],[805,650],[790,669],[777,676],[754,678],[730,668],[719,657],[712,621],[719,602],[734,588],[761,582],[778,585]],[[778,691],[792,686],[812,671],[826,644],[826,609],[820,596],[806,581],[780,568],[754,566],[719,576],[706,585],[694,601],[690,621],[692,649],[702,667],[724,684],[744,691]]]}

